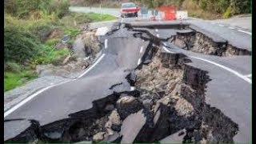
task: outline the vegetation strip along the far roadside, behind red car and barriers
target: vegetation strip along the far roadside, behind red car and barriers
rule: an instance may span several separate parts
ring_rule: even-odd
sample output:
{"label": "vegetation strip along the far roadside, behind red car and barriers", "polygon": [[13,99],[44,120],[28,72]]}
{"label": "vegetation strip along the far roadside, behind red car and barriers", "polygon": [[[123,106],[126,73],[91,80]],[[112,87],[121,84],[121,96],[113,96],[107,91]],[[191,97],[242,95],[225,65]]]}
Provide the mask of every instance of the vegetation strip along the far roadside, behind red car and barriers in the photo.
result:
{"label": "vegetation strip along the far roadside, behind red car and barriers", "polygon": [[[101,0],[71,0],[74,6],[99,6]],[[103,1],[103,7],[119,8],[122,0]],[[251,13],[251,0],[130,0],[144,4],[149,8],[158,6],[176,6],[178,10],[188,10],[195,18],[230,18],[238,14]]]}

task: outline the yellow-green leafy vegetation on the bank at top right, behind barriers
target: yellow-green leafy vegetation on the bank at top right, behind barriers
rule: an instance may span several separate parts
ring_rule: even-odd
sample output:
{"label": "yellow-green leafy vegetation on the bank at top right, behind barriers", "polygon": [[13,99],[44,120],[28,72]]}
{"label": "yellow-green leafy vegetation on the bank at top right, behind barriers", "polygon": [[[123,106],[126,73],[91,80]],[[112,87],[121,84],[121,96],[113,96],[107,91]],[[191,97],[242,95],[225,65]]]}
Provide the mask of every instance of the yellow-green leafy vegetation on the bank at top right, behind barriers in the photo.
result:
{"label": "yellow-green leafy vegetation on the bank at top right, behind barriers", "polygon": [[196,17],[208,19],[251,13],[250,0],[143,0],[142,2],[150,8],[176,6],[180,10],[188,10],[189,14]]}

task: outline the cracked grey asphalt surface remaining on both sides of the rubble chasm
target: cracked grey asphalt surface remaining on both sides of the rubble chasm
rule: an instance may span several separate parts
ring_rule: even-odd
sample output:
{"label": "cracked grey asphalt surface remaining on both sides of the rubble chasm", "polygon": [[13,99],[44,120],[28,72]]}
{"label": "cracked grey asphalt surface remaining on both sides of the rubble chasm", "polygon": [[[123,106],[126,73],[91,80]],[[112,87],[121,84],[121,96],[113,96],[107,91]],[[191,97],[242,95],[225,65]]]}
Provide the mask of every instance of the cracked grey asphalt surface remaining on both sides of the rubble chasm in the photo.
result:
{"label": "cracked grey asphalt surface remaining on both sides of the rubble chasm", "polygon": [[[117,14],[117,12],[110,10],[110,14]],[[128,19],[127,22],[134,22],[133,18]],[[251,49],[250,34],[215,26],[209,22],[198,22],[192,19],[187,22],[213,35],[218,35],[241,49]],[[150,25],[150,22],[145,23]],[[162,22],[161,25],[167,23]],[[142,22],[139,24],[144,25]],[[158,24],[158,22],[151,24]],[[159,30],[155,27],[149,31],[155,38],[166,38],[166,34],[175,33],[174,30]],[[102,56],[81,78],[44,90],[28,102],[11,110],[10,113],[5,113],[5,120],[16,118],[25,120],[4,122],[4,140],[14,138],[26,130],[30,126],[30,119],[38,121],[43,126],[69,118],[69,114],[88,110],[92,107],[94,100],[113,94],[114,91],[130,91],[130,84],[125,77],[129,74],[129,70],[138,66],[139,59],[149,45],[148,41],[134,38],[133,34],[133,31],[121,27],[114,34],[104,36],[102,43],[106,40],[107,46],[102,46]],[[251,80],[246,76],[251,71],[250,56],[218,57],[182,50],[171,46],[168,42],[165,45],[166,52],[186,54],[192,60],[189,65],[209,72],[211,81],[207,83],[206,103],[222,110],[226,116],[238,123],[239,131],[234,136],[234,142],[249,142]],[[111,86],[120,82],[122,85],[114,86],[110,90]],[[172,139],[165,138],[165,140]]]}

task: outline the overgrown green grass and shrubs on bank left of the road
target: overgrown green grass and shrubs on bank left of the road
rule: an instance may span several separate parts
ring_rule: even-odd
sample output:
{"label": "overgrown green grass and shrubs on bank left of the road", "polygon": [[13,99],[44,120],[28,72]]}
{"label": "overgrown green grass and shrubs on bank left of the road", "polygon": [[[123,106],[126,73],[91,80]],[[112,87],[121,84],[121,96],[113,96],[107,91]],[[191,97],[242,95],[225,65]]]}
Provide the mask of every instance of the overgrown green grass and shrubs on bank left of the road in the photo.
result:
{"label": "overgrown green grass and shrubs on bank left of the road", "polygon": [[33,15],[29,18],[16,18],[5,13],[4,91],[37,78],[37,65],[62,63],[70,50],[66,46],[54,46],[64,35],[70,35],[68,44],[72,45],[81,33],[82,25],[116,19],[109,14],[94,13],[67,13],[62,18],[42,12],[36,14],[37,18]]}

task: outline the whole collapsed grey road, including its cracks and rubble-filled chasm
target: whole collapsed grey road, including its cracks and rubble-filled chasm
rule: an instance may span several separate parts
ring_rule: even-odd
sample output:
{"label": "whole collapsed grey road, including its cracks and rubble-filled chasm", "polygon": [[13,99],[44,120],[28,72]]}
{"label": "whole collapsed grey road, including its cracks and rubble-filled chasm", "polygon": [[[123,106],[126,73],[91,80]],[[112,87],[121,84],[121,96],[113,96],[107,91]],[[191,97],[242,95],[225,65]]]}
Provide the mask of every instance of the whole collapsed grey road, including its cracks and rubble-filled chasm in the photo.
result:
{"label": "whole collapsed grey road, including its cracks and rubble-filled chasm", "polygon": [[250,63],[237,63],[250,52],[218,53],[212,35],[199,30],[209,42],[178,37],[191,30],[114,26],[81,78],[5,114],[5,142],[249,142],[250,80],[238,75]]}

